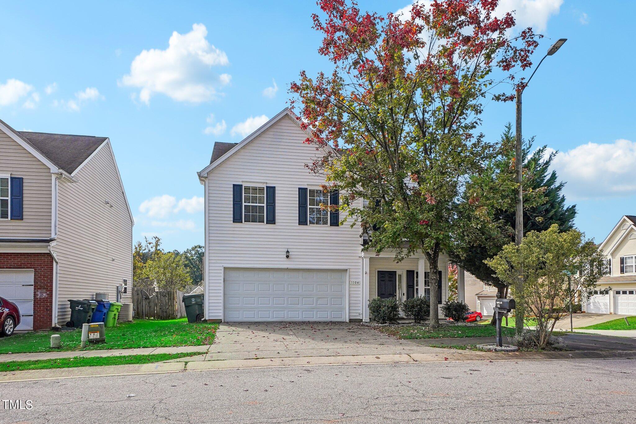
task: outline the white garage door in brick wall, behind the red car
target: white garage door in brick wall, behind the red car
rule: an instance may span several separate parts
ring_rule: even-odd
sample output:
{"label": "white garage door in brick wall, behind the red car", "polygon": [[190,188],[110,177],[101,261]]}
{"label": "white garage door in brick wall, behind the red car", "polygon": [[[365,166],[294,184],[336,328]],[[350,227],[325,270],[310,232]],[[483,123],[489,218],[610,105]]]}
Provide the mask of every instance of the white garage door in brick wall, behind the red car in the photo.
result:
{"label": "white garage door in brick wall, behind the red car", "polygon": [[32,330],[33,270],[0,270],[0,297],[18,306],[20,325],[16,330]]}

